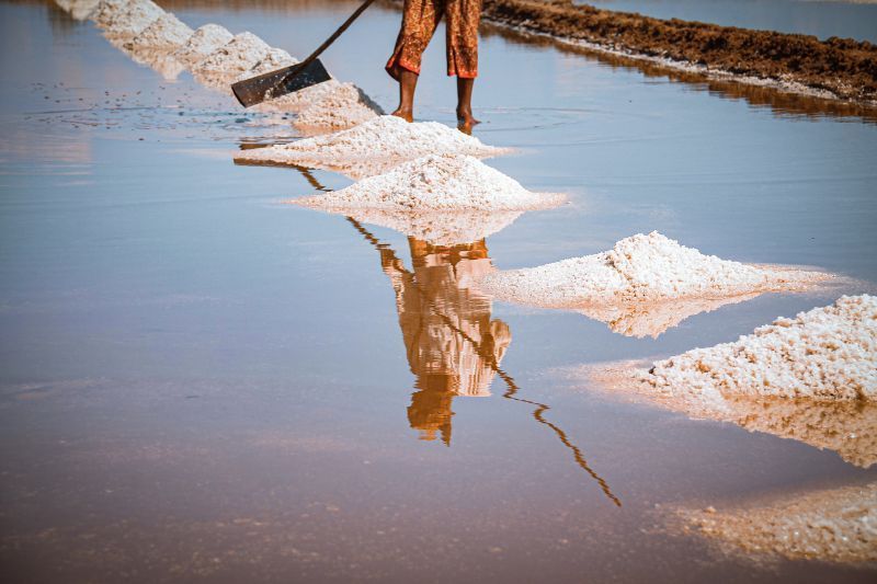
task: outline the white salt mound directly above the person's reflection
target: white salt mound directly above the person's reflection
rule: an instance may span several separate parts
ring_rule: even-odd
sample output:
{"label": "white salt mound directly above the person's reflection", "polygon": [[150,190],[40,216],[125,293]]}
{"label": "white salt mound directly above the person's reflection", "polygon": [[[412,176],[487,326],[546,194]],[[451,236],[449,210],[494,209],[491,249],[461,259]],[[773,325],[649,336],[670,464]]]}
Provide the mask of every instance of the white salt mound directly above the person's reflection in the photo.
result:
{"label": "white salt mound directly above the person's reflection", "polygon": [[521,211],[554,207],[565,198],[559,194],[531,193],[470,156],[430,154],[340,191],[291,203],[329,209]]}

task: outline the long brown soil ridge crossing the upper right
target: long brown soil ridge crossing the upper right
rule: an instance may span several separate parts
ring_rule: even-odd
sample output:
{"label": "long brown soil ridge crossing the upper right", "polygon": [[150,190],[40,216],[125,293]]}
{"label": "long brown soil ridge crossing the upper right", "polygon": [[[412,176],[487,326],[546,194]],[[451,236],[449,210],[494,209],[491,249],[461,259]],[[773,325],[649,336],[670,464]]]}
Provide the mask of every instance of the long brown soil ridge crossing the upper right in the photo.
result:
{"label": "long brown soil ridge crossing the upper right", "polygon": [[485,0],[483,18],[612,51],[877,102],[877,46],[867,41],[660,20],[570,0]]}

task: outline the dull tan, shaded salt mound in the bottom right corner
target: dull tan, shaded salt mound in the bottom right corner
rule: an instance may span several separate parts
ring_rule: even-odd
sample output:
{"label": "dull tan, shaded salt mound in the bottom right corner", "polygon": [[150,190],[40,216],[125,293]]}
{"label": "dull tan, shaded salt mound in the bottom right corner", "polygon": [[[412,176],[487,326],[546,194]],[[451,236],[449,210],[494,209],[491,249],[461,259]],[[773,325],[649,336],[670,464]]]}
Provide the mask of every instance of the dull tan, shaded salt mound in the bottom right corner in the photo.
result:
{"label": "dull tan, shaded salt mound in the bottom right corner", "polygon": [[686,531],[744,552],[838,563],[877,561],[877,482],[717,512],[679,509]]}

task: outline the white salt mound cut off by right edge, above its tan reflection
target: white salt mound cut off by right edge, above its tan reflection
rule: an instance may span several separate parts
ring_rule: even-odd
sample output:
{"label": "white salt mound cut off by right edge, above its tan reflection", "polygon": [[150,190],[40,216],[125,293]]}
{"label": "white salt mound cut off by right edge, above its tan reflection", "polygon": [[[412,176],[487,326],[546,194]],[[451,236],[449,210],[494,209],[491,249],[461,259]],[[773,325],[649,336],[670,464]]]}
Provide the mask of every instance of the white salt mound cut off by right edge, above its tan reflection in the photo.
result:
{"label": "white salt mound cut off by right edge, above its tan reflection", "polygon": [[843,296],[733,343],[658,362],[638,379],[705,408],[728,394],[877,399],[877,297]]}

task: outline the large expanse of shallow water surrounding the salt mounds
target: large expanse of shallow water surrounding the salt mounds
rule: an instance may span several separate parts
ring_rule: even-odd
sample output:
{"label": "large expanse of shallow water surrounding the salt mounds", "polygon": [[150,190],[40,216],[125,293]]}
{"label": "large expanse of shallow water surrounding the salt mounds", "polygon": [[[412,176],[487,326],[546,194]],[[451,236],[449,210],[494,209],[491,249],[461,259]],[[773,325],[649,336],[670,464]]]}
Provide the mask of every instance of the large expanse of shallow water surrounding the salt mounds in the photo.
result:
{"label": "large expanse of shallow water surrounding the salt mounds", "polygon": [[[351,4],[267,8],[175,11],[301,56]],[[0,16],[12,81],[0,90],[0,556],[13,580],[873,580],[725,556],[668,531],[665,515],[877,469],[570,374],[873,289],[872,118],[488,28],[476,133],[521,150],[490,164],[572,205],[433,249],[280,204],[349,179],[231,162],[288,126],[187,75],[162,81],[47,4]],[[326,58],[385,107],[397,24],[375,7]],[[453,122],[441,42],[418,96],[419,117]],[[491,305],[466,285],[488,257],[532,266],[652,229],[861,282],[726,306],[657,339]]]}

